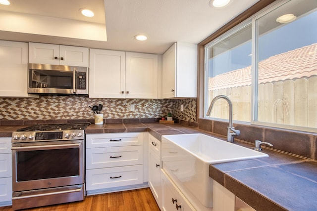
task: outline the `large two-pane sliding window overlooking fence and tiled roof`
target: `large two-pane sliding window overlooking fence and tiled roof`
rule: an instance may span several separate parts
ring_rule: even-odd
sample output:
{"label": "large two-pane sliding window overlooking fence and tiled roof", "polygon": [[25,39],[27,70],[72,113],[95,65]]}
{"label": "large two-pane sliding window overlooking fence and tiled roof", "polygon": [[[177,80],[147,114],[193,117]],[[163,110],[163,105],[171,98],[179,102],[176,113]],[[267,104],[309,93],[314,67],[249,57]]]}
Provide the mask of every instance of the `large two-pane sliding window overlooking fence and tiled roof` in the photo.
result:
{"label": "large two-pane sliding window overlooking fence and tiled roof", "polygon": [[[317,131],[317,1],[280,1],[252,18],[206,45],[205,110],[223,94],[234,121]],[[218,106],[211,117],[228,119]]]}

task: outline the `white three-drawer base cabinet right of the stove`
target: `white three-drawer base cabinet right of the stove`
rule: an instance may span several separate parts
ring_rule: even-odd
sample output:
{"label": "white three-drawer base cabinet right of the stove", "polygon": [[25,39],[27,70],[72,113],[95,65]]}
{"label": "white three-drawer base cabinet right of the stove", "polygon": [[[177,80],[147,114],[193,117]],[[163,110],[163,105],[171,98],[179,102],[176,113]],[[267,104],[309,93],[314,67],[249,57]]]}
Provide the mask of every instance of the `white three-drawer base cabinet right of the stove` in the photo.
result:
{"label": "white three-drawer base cabinet right of the stove", "polygon": [[87,195],[143,185],[143,135],[142,132],[86,134]]}

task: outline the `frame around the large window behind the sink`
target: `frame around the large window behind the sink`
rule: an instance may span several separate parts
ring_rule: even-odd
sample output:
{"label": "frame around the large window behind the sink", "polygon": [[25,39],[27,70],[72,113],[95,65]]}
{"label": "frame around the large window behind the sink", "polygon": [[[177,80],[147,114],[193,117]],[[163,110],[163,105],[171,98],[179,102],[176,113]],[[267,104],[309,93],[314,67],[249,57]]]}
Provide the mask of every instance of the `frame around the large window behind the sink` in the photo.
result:
{"label": "frame around the large window behind the sink", "polygon": [[[262,0],[261,0],[262,1]],[[252,70],[251,70],[251,120],[250,122],[241,122],[241,121],[233,121],[234,123],[243,123],[246,125],[254,125],[259,127],[275,127],[278,129],[292,129],[292,130],[299,130],[303,132],[317,132],[317,128],[313,127],[301,127],[301,126],[291,126],[291,125],[283,125],[283,124],[276,124],[276,123],[267,123],[267,122],[260,122],[257,121],[257,112],[258,112],[258,52],[257,52],[257,44],[258,44],[258,29],[256,25],[256,21],[263,17],[264,15],[268,14],[272,10],[276,9],[277,7],[287,3],[290,0],[276,0],[276,2],[270,2],[266,6],[262,7],[258,11],[254,11],[252,15],[249,17],[246,17],[244,20],[240,20],[239,23],[236,23],[234,26],[231,26],[226,31],[222,32],[221,34],[217,35],[217,32],[212,34],[209,39],[206,39],[205,41],[199,43],[198,49],[200,51],[204,51],[199,53],[199,56],[203,54],[203,67],[202,65],[199,65],[200,72],[203,71],[203,74],[200,74],[198,77],[202,84],[200,84],[199,87],[199,100],[201,105],[198,105],[199,111],[203,111],[203,114],[198,112],[198,117],[210,119],[210,120],[218,120],[218,121],[228,121],[226,119],[218,119],[218,118],[212,118],[207,117],[207,109],[208,109],[208,47],[220,42],[221,40],[226,39],[227,37],[231,36],[235,32],[243,29],[244,27],[251,24],[252,27]],[[263,2],[263,1],[262,1]],[[259,1],[259,3],[261,3]],[[255,5],[254,5],[255,6]],[[251,9],[251,8],[249,8]],[[243,15],[243,14],[242,14]],[[239,17],[237,17],[239,18]],[[234,21],[234,20],[233,20]],[[229,23],[228,23],[229,24]],[[224,26],[228,27],[228,26]],[[221,31],[221,29],[220,29]],[[200,63],[201,64],[201,63]],[[202,69],[203,70],[202,70]],[[202,76],[203,75],[203,76]],[[202,92],[203,91],[203,92]],[[203,95],[201,94],[203,93]]]}

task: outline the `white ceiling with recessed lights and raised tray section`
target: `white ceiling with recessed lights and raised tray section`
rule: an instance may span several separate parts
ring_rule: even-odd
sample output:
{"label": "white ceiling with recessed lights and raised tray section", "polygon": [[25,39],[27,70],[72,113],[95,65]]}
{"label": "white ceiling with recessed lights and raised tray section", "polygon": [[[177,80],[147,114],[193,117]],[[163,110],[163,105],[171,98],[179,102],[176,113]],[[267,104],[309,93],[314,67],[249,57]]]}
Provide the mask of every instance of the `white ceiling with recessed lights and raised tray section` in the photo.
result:
{"label": "white ceiling with recessed lights and raised tray section", "polygon": [[[9,1],[10,5],[0,4],[0,40],[162,54],[173,42],[197,44],[203,41],[259,0],[231,0],[223,8],[209,6],[209,0]],[[92,9],[95,16],[82,16],[79,9],[83,7]],[[22,18],[20,25],[10,23],[16,22],[11,14],[28,18],[32,16],[32,23],[27,18]],[[7,17],[6,21],[3,21],[3,17]],[[58,23],[94,25],[103,28],[106,33],[69,25],[69,29],[76,30],[75,33],[74,30],[70,33],[72,30],[67,30],[67,27],[65,29],[65,26]],[[48,30],[48,27],[52,29]],[[46,33],[47,31],[50,33]],[[90,33],[87,36],[90,37],[85,35],[83,39],[75,35],[87,34],[87,31]],[[95,38],[96,34],[102,39]],[[136,41],[134,36],[137,34],[147,35],[148,40]]]}

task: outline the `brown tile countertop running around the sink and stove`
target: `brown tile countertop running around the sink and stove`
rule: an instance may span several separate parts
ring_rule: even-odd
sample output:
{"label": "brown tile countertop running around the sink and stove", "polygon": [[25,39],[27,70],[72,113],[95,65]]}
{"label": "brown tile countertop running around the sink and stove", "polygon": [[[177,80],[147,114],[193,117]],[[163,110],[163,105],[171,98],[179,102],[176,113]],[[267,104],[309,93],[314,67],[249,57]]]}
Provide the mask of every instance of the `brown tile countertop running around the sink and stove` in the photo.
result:
{"label": "brown tile countertop running around the sink and stove", "polygon": [[[0,137],[25,126],[0,126]],[[226,137],[196,127],[178,124],[128,123],[90,125],[86,134],[148,131],[162,135],[204,133],[222,140]],[[236,139],[234,144],[253,148]],[[317,161],[263,147],[268,158],[210,165],[210,176],[257,211],[316,211]]]}

